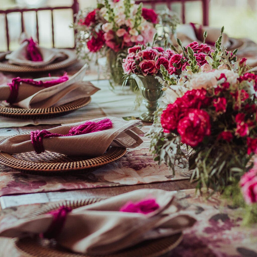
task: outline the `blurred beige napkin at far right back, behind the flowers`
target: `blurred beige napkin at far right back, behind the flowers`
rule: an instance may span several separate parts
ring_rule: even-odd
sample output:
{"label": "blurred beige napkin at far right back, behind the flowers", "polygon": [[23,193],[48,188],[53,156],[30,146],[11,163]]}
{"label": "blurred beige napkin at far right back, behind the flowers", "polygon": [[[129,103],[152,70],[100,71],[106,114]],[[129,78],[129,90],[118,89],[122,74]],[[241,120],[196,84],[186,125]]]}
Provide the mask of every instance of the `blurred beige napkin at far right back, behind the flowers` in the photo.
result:
{"label": "blurred beige napkin at far right back, behind the flowers", "polygon": [[[206,43],[215,43],[218,37],[221,34],[221,29],[202,26],[202,32],[199,33],[199,36],[196,35],[194,28],[190,24],[181,24],[177,27],[176,30],[176,38],[172,37],[172,42],[174,45],[177,45],[177,38],[182,41],[182,45],[185,47],[186,45],[192,43],[193,41],[197,41],[198,43],[203,43],[204,37],[203,33],[207,31]],[[222,34],[222,45],[225,47],[230,47],[231,43],[229,41],[228,35]]]}

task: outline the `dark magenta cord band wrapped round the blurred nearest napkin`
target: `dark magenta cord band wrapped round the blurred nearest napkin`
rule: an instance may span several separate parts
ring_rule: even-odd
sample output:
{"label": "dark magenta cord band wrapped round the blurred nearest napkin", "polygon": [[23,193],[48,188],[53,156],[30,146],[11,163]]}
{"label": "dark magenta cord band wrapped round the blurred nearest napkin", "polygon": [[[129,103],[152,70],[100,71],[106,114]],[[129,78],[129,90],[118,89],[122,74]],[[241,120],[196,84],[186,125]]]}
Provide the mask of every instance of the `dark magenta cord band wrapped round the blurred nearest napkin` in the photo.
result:
{"label": "dark magenta cord band wrapped round the blurred nearest napkin", "polygon": [[39,236],[48,239],[57,238],[62,231],[66,216],[69,212],[71,212],[71,208],[67,206],[61,206],[59,209],[49,212],[49,214],[52,214],[53,216],[52,223],[47,231],[41,233]]}

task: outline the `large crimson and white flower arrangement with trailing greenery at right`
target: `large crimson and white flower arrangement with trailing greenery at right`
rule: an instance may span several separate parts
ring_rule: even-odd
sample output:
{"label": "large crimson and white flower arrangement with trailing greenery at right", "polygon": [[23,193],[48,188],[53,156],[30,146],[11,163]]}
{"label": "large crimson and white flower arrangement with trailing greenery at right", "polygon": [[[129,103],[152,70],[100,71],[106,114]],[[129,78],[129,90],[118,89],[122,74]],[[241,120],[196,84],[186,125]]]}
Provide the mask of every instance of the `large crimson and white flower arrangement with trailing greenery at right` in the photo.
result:
{"label": "large crimson and white flower arrangement with trailing greenery at right", "polygon": [[[179,39],[181,52],[172,47],[168,68],[160,66],[167,106],[149,132],[151,148],[174,173],[176,165],[189,166],[197,189],[235,196],[241,187],[246,203],[256,203],[257,165],[251,169],[249,160],[257,153],[257,76],[221,40],[215,50],[197,42],[182,47]],[[256,205],[254,213],[256,220]]]}

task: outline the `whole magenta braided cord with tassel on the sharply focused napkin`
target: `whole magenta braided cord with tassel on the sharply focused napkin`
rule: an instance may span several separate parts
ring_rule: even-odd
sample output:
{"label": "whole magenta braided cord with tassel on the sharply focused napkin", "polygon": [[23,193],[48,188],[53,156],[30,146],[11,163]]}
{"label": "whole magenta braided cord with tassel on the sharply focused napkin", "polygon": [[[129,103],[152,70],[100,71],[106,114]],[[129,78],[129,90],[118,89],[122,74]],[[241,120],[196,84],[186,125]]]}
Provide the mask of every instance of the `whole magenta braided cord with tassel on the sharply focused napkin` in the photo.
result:
{"label": "whole magenta braided cord with tassel on the sharply focused napkin", "polygon": [[43,153],[45,151],[43,146],[43,138],[49,137],[60,137],[60,136],[75,136],[75,135],[82,135],[88,134],[97,131],[103,131],[111,128],[113,125],[110,119],[103,119],[97,122],[94,121],[87,121],[77,127],[73,127],[69,130],[69,133],[66,135],[51,133],[47,130],[36,130],[30,132],[30,139],[31,143],[34,147],[36,153]]}

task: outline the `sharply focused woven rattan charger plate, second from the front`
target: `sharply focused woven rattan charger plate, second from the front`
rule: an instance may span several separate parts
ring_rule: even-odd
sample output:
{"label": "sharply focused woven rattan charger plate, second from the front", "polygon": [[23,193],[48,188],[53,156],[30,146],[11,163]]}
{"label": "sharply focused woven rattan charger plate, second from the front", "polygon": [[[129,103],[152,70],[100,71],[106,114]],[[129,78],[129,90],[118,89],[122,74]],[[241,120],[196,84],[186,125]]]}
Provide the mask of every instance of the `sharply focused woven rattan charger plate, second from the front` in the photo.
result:
{"label": "sharply focused woven rattan charger plate, second from the front", "polygon": [[[1,140],[0,144],[4,140]],[[40,154],[35,152],[9,154],[0,151],[0,163],[21,172],[35,175],[67,175],[99,168],[120,159],[126,151],[127,149],[124,147],[110,146],[103,155],[94,158],[67,156],[49,151]]]}

